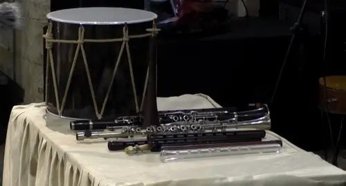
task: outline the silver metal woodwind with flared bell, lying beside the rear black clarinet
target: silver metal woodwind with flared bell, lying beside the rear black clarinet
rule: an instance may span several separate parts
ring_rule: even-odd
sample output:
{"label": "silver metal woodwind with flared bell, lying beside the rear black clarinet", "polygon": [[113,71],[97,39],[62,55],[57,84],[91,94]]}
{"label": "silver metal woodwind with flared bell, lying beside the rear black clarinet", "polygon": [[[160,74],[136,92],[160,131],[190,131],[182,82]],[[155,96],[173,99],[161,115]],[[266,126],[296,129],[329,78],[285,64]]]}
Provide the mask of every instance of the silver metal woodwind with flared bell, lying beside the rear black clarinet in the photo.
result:
{"label": "silver metal woodwind with flared bell, lying beside the rear black clarinet", "polygon": [[[177,111],[179,113],[179,111]],[[222,114],[221,114],[222,113]],[[145,137],[149,133],[194,133],[228,131],[238,128],[270,129],[271,117],[268,106],[263,104],[259,109],[226,113],[179,113],[167,115],[174,122],[150,126],[143,129],[140,124],[126,124],[107,127],[104,131],[80,131],[76,133],[77,140],[95,138],[134,138]],[[177,117],[177,118],[176,118]]]}

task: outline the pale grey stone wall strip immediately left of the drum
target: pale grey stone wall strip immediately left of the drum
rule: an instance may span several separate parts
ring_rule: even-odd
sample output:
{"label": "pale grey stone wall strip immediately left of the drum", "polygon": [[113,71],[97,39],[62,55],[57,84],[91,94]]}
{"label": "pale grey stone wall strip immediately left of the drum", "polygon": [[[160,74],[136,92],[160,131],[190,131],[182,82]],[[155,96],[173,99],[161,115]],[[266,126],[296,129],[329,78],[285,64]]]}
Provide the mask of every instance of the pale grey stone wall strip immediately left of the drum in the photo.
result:
{"label": "pale grey stone wall strip immediately left of the drum", "polygon": [[50,0],[25,0],[22,2],[25,26],[16,35],[18,64],[21,64],[21,86],[26,91],[25,102],[43,102],[43,28],[46,14],[51,10]]}

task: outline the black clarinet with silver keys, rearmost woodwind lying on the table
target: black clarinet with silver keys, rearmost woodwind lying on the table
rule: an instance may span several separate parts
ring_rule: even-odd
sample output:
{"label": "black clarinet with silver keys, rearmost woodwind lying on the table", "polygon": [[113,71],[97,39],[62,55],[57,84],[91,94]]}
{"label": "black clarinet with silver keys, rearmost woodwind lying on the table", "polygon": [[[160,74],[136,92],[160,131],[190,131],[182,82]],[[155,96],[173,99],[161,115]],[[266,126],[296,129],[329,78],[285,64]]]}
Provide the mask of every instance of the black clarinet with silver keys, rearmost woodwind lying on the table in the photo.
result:
{"label": "black clarinet with silver keys, rearmost woodwind lying on the table", "polygon": [[[249,111],[235,111],[234,107],[228,108],[213,108],[213,109],[186,109],[174,111],[159,111],[159,123],[167,124],[172,122],[188,122],[196,120],[228,120],[235,118],[238,115],[240,121],[249,120],[248,118],[254,115],[264,115],[268,113],[268,107],[264,104],[259,109]],[[71,131],[86,131],[86,130],[104,130],[110,127],[119,127],[122,125],[141,125],[143,115],[122,116],[116,120],[75,120],[70,122]]]}

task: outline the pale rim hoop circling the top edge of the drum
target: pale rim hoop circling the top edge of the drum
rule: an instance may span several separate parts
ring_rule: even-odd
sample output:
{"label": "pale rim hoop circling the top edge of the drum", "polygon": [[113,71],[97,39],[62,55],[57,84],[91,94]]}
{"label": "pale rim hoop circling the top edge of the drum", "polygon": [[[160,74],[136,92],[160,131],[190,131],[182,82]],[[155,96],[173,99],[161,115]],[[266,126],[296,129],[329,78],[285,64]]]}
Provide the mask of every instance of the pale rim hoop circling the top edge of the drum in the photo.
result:
{"label": "pale rim hoop circling the top edge of the drum", "polygon": [[[80,10],[80,9],[122,9],[122,10],[136,10],[136,11],[140,11],[140,12],[147,12],[148,15],[151,15],[150,18],[146,18],[146,19],[136,19],[133,21],[73,21],[73,20],[66,20],[66,19],[60,19],[57,17],[53,17],[54,14],[56,14],[57,12],[62,12],[62,11],[75,11],[75,10]],[[76,24],[76,25],[95,25],[95,26],[102,26],[102,25],[113,25],[113,26],[117,26],[117,25],[123,25],[123,24],[142,24],[145,22],[149,22],[149,21],[154,21],[154,19],[157,19],[157,15],[154,12],[150,12],[147,10],[140,10],[140,9],[135,9],[135,8],[120,8],[120,7],[87,7],[87,8],[68,8],[68,9],[63,9],[63,10],[57,10],[57,11],[53,11],[53,12],[49,12],[46,15],[46,18],[49,21],[55,21],[55,22],[60,22],[60,23],[64,23],[64,24]]]}

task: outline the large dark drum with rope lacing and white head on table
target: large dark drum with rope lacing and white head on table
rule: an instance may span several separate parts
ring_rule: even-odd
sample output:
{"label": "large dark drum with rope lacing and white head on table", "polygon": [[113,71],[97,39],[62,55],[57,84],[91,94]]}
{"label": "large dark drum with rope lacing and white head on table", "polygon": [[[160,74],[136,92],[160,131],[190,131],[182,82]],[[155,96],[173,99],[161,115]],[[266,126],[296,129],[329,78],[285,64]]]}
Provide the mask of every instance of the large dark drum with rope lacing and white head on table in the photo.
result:
{"label": "large dark drum with rope lacing and white head on table", "polygon": [[116,118],[142,107],[149,32],[157,15],[130,8],[51,12],[46,39],[48,113]]}

